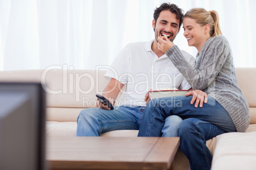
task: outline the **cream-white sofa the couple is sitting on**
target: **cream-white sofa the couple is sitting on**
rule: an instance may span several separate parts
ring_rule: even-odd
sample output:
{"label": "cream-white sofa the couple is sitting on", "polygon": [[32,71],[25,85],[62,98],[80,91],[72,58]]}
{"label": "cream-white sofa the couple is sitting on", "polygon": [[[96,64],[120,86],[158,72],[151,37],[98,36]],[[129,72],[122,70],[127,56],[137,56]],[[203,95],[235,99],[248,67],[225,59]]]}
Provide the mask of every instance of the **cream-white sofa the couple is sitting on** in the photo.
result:
{"label": "cream-white sofa the couple is sitting on", "polygon": [[[76,119],[83,108],[96,107],[108,81],[105,70],[1,71],[0,82],[42,82],[46,90],[46,136],[75,136]],[[238,84],[250,106],[251,121],[246,133],[225,133],[207,141],[213,154],[212,169],[256,169],[256,68],[237,68]],[[118,96],[122,98],[122,96]],[[138,131],[122,130],[102,136],[137,136]],[[174,169],[190,169],[178,150]]]}

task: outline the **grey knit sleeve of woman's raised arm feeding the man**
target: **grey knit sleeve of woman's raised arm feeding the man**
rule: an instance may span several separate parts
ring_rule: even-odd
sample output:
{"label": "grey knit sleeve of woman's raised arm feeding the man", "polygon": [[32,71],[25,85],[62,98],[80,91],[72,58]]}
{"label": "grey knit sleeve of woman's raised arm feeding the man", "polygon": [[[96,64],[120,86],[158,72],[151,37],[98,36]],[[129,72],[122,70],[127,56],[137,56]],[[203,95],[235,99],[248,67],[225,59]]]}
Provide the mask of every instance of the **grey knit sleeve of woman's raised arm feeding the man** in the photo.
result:
{"label": "grey knit sleeve of woman's raised arm feeding the man", "polygon": [[[210,46],[211,44],[211,46]],[[168,49],[166,55],[174,63],[176,68],[183,74],[193,89],[204,90],[215,81],[225,63],[229,49],[225,48],[225,42],[222,37],[211,37],[206,41],[200,51],[196,67],[191,67],[185,58],[181,55],[178,46]]]}

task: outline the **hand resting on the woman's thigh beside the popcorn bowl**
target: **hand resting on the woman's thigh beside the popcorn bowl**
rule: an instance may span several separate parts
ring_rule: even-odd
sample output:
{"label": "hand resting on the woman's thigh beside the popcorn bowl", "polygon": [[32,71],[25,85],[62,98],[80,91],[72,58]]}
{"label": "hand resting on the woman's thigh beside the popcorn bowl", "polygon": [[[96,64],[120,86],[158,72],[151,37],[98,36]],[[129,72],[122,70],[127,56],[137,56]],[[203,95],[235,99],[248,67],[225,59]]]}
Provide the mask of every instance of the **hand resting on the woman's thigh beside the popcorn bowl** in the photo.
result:
{"label": "hand resting on the woman's thigh beside the popcorn bowl", "polygon": [[207,103],[208,101],[207,94],[199,89],[188,91],[186,96],[193,96],[192,100],[190,101],[190,104],[193,105],[194,102],[196,101],[195,103],[196,108],[198,107],[199,102],[200,102],[199,107],[203,107],[203,103]]}

